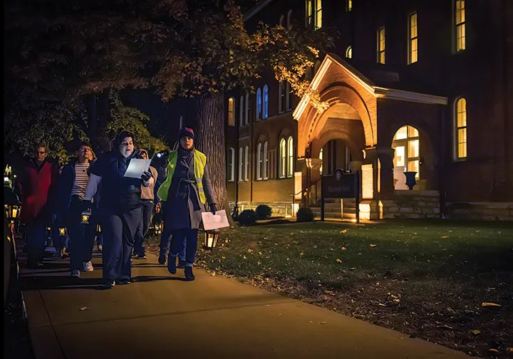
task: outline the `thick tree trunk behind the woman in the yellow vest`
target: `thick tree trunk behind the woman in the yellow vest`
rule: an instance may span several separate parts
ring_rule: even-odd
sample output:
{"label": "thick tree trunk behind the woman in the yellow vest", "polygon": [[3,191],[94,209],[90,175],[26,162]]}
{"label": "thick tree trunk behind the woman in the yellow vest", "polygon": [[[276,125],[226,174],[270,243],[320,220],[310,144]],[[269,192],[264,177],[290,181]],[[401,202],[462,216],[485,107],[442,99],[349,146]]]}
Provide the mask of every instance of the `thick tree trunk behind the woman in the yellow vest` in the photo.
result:
{"label": "thick tree trunk behind the woman in the yellow vest", "polygon": [[224,107],[222,93],[197,97],[196,147],[207,155],[210,181],[218,209],[224,209],[228,220],[229,202],[226,187],[226,140],[224,138]]}

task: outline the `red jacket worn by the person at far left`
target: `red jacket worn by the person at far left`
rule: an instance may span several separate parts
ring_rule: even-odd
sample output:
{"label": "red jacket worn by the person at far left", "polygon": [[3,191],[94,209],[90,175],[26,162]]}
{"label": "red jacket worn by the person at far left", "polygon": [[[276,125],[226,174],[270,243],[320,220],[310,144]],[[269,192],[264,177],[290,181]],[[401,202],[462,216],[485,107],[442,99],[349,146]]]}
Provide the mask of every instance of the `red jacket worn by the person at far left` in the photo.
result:
{"label": "red jacket worn by the person at far left", "polygon": [[33,222],[43,209],[43,215],[51,218],[57,200],[59,171],[56,165],[45,161],[38,170],[36,162],[26,165],[20,178],[21,186],[21,222]]}

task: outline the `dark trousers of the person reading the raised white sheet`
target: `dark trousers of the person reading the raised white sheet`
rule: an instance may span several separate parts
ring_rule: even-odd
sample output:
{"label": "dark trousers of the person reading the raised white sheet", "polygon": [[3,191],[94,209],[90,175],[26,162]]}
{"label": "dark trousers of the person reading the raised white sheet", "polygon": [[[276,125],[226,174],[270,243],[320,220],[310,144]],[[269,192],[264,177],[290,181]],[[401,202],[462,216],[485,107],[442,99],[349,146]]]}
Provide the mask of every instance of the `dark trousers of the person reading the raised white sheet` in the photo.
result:
{"label": "dark trousers of the person reading the raised white sheet", "polygon": [[139,207],[123,213],[103,210],[100,215],[103,232],[103,282],[130,280],[130,256],[142,209]]}

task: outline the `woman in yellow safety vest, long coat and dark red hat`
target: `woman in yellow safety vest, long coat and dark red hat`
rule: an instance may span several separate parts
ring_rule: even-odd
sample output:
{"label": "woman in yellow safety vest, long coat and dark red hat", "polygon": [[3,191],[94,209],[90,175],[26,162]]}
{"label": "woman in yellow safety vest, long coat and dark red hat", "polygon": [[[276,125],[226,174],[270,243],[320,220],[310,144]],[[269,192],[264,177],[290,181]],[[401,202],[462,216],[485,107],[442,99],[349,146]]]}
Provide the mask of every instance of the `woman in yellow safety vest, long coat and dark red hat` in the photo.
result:
{"label": "woman in yellow safety vest, long coat and dark red hat", "polygon": [[207,156],[194,147],[195,134],[190,128],[180,130],[180,145],[172,150],[167,165],[167,176],[157,195],[166,204],[164,232],[160,241],[160,257],[165,258],[169,236],[171,248],[167,270],[176,273],[176,257],[185,246],[185,279],[194,281],[192,264],[197,249],[197,231],[202,222],[202,212],[208,203],[210,212],[216,204],[207,166]]}

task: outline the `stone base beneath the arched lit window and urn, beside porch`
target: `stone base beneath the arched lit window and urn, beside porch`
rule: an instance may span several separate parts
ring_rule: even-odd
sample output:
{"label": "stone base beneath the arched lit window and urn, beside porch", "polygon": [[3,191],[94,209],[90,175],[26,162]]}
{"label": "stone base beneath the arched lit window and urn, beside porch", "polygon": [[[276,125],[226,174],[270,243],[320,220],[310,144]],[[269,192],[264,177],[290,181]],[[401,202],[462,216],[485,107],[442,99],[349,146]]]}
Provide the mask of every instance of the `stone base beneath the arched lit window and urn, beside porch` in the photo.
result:
{"label": "stone base beneath the arched lit window and urn, beside porch", "polygon": [[383,219],[387,218],[440,218],[438,191],[395,190],[394,199],[381,201]]}

